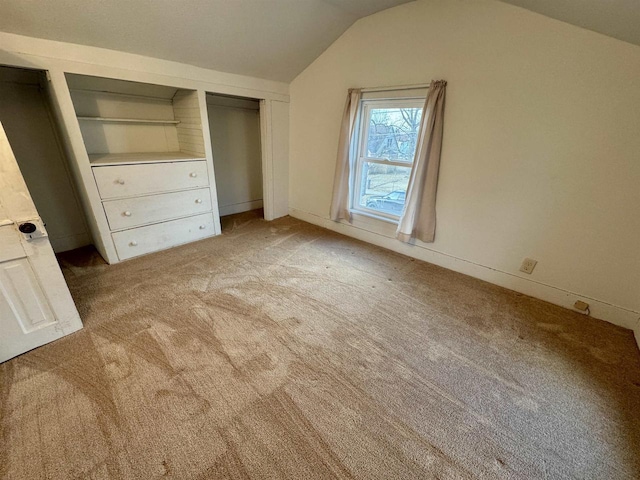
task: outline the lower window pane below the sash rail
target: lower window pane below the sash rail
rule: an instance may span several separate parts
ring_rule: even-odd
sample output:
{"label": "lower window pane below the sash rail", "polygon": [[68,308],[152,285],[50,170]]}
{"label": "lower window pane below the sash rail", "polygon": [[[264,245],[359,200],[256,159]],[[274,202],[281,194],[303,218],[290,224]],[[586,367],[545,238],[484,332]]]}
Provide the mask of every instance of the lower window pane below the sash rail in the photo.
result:
{"label": "lower window pane below the sash rail", "polygon": [[410,173],[411,167],[363,162],[359,205],[400,216]]}

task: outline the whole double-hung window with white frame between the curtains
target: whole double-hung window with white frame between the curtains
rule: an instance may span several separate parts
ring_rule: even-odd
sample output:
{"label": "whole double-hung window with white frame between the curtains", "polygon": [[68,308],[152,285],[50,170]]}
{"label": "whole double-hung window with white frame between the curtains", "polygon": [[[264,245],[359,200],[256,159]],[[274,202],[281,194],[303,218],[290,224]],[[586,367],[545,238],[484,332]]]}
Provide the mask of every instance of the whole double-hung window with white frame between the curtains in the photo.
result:
{"label": "whole double-hung window with white frame between the curtains", "polygon": [[398,221],[423,106],[424,98],[361,100],[359,136],[354,146],[353,211]]}

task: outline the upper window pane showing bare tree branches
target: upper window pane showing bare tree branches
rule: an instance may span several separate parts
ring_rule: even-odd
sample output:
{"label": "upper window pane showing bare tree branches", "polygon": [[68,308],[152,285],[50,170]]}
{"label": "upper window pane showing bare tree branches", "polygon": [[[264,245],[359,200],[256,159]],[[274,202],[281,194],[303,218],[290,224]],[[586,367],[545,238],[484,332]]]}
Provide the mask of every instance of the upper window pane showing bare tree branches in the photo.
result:
{"label": "upper window pane showing bare tree branches", "polygon": [[422,108],[369,110],[368,158],[413,161]]}

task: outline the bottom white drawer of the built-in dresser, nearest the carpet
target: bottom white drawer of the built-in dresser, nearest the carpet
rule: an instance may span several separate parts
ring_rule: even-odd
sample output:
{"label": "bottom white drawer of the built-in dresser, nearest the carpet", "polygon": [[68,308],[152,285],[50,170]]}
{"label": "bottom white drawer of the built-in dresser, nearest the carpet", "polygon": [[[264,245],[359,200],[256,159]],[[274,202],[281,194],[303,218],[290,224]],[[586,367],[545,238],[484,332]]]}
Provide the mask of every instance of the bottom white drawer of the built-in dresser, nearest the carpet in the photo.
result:
{"label": "bottom white drawer of the built-in dresser, nearest the carpet", "polygon": [[205,213],[112,233],[120,260],[164,250],[215,234],[213,215]]}

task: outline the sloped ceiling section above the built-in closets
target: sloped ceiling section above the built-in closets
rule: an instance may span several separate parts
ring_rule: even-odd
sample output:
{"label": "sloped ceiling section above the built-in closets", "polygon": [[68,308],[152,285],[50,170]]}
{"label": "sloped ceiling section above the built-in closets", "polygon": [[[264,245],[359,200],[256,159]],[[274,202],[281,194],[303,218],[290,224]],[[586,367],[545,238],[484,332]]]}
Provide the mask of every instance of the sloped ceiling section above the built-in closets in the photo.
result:
{"label": "sloped ceiling section above the built-in closets", "polygon": [[361,17],[410,0],[1,0],[0,31],[289,82]]}

